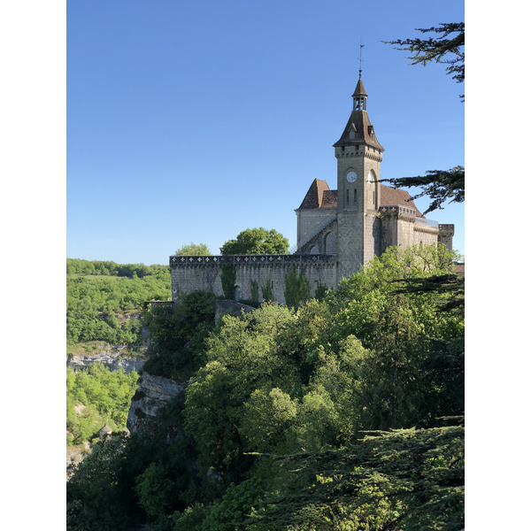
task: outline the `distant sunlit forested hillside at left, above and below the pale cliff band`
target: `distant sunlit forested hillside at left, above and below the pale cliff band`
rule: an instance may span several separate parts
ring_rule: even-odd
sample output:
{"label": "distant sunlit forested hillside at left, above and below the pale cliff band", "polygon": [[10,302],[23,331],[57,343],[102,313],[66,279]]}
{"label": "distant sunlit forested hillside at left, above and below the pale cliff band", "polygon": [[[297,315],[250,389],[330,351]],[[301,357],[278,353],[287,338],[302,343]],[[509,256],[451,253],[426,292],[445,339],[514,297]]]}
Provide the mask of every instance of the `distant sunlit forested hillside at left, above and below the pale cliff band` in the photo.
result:
{"label": "distant sunlit forested hillside at left, above and below the pale cliff band", "polygon": [[[95,353],[110,345],[130,355],[144,352],[141,330],[146,303],[165,300],[169,293],[167,266],[67,258],[67,352]],[[135,372],[112,372],[99,363],[75,373],[67,368],[67,444],[84,450],[104,424],[123,430],[137,379]]]}

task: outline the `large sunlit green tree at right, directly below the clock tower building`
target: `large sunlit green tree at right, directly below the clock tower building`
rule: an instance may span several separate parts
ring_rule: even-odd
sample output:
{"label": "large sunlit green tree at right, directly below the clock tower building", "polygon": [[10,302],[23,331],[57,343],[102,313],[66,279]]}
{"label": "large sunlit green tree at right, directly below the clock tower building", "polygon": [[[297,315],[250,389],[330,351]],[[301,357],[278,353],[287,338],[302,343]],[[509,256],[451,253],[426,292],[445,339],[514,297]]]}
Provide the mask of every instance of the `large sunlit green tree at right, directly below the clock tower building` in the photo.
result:
{"label": "large sunlit green tree at right, directly below the clock tower building", "polygon": [[365,429],[429,426],[462,414],[463,315],[442,311],[448,293],[399,292],[447,272],[453,258],[444,246],[392,248],[330,295],[337,338],[355,335],[371,352],[358,367]]}

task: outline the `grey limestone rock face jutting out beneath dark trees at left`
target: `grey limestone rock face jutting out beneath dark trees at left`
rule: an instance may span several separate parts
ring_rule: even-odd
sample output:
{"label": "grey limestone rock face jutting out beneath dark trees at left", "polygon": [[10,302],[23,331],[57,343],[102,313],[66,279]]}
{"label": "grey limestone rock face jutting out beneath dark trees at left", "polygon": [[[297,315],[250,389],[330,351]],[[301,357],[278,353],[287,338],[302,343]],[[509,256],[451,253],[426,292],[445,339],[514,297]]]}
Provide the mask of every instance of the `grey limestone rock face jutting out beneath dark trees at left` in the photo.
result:
{"label": "grey limestone rock face jutting out beneath dark trees at left", "polygon": [[127,416],[129,432],[141,433],[149,428],[150,421],[155,419],[158,412],[161,412],[173,397],[183,393],[185,388],[184,383],[143,373],[138,380],[138,389]]}

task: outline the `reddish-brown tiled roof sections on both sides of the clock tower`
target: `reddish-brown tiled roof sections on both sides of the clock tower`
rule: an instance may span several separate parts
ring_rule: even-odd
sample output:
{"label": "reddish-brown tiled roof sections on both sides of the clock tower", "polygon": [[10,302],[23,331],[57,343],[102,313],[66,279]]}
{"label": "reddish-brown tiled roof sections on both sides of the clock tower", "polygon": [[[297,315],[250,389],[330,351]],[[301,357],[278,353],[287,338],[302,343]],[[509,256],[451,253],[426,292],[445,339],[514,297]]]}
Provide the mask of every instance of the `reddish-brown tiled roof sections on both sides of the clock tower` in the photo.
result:
{"label": "reddish-brown tiled roof sections on both sides of the clock tower", "polygon": [[[412,196],[407,190],[395,189],[390,186],[380,185],[380,206],[407,206],[415,211],[417,218],[424,218],[417,205],[412,201]],[[306,192],[299,210],[313,208],[337,208],[337,190],[331,190],[327,181],[314,179],[310,189]]]}

